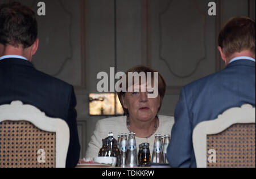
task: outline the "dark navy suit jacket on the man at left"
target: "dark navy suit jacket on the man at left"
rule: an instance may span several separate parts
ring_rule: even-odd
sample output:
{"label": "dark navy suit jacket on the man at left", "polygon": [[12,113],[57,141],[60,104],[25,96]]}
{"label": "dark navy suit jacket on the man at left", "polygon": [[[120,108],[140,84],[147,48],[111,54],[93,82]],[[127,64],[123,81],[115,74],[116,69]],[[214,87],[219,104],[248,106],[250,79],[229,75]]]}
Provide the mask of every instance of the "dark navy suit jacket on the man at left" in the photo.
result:
{"label": "dark navy suit jacket on the man at left", "polygon": [[76,97],[73,87],[36,70],[32,63],[19,58],[0,60],[0,105],[20,100],[36,106],[48,117],[68,123],[70,142],[66,167],[76,167],[80,144],[76,124]]}

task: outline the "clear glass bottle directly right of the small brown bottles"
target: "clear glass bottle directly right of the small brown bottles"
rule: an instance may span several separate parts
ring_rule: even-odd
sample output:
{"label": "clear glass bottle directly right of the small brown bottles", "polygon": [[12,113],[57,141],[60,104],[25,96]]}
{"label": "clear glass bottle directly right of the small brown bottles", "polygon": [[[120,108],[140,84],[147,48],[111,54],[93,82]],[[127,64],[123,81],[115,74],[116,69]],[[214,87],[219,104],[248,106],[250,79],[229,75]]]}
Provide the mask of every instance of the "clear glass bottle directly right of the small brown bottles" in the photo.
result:
{"label": "clear glass bottle directly right of the small brown bottles", "polygon": [[162,146],[162,136],[159,134],[155,135],[155,142],[152,154],[152,163],[163,164],[163,146]]}

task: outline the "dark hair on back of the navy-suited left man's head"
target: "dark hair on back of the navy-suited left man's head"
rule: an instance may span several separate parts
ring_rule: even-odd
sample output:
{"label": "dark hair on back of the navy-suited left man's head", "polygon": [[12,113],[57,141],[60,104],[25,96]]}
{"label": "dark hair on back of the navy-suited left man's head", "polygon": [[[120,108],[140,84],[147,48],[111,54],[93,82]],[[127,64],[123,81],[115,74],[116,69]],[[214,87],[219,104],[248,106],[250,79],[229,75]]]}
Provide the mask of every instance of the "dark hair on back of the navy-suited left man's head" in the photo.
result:
{"label": "dark hair on back of the navy-suited left man's head", "polygon": [[34,11],[18,2],[0,5],[0,44],[28,48],[37,36]]}

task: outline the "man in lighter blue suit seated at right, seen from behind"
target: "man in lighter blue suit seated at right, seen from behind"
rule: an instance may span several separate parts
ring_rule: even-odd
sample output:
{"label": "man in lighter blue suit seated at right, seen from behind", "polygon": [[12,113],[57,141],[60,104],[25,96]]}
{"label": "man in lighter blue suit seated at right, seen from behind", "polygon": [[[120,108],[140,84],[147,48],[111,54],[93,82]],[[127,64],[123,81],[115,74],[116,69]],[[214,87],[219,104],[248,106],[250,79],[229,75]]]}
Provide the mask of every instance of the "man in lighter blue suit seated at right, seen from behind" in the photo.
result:
{"label": "man in lighter blue suit seated at right, seen from behind", "polygon": [[196,167],[194,127],[243,104],[255,106],[255,21],[233,18],[220,32],[218,49],[226,68],[181,90],[168,146],[171,167]]}

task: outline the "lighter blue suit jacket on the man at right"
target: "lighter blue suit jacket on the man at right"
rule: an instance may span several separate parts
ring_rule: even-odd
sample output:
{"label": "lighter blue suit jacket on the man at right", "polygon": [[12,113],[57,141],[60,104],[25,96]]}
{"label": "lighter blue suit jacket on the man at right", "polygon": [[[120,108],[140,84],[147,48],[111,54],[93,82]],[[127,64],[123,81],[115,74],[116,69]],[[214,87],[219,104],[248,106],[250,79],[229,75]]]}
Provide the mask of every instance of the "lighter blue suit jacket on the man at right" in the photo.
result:
{"label": "lighter blue suit jacket on the man at right", "polygon": [[255,106],[255,62],[240,59],[181,90],[167,158],[171,167],[196,167],[194,127],[243,104]]}

